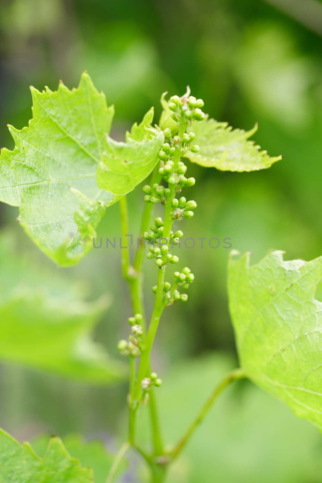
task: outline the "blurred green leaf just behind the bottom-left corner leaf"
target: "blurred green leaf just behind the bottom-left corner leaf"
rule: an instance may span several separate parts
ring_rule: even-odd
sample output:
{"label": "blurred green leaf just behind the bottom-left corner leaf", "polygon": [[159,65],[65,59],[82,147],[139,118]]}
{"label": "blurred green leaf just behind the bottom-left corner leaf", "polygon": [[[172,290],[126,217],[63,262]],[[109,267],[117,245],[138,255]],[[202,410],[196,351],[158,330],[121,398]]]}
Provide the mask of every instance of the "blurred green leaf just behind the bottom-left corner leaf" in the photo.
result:
{"label": "blurred green leaf just behind the bottom-left corner leaf", "polygon": [[[49,435],[42,434],[31,441],[31,446],[37,455],[43,457],[46,454],[48,440]],[[95,483],[106,483],[115,455],[107,451],[103,441],[84,441],[79,435],[70,434],[63,438],[63,444],[72,457],[78,458],[83,466],[93,469]],[[120,469],[124,470],[124,467],[123,461]]]}

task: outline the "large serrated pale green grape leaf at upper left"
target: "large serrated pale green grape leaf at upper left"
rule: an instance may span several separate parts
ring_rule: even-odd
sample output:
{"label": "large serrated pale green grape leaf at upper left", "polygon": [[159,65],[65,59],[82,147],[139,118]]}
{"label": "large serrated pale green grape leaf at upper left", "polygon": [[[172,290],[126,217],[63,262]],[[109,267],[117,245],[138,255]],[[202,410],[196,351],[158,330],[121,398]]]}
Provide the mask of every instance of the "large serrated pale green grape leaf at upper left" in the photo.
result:
{"label": "large serrated pale green grape leaf at upper left", "polygon": [[47,256],[74,265],[91,249],[99,220],[118,199],[102,192],[96,179],[114,108],[86,72],[77,89],[60,82],[55,92],[31,87],[31,94],[28,128],[9,126],[15,148],[1,150],[0,201],[19,206],[18,221]]}

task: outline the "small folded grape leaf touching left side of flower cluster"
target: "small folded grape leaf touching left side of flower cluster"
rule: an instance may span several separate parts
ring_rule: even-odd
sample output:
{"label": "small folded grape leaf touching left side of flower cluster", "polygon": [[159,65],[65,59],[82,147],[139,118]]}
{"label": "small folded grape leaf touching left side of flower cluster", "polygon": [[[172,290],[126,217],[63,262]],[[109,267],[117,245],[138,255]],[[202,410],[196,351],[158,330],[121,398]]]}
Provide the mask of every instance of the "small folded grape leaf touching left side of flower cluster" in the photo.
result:
{"label": "small folded grape leaf touching left side of flower cluster", "polygon": [[[151,117],[152,114],[152,117]],[[142,123],[126,133],[126,142],[106,137],[102,161],[98,165],[98,186],[116,195],[126,195],[141,183],[159,161],[158,153],[164,141],[163,132],[151,128],[153,110],[145,114]]]}

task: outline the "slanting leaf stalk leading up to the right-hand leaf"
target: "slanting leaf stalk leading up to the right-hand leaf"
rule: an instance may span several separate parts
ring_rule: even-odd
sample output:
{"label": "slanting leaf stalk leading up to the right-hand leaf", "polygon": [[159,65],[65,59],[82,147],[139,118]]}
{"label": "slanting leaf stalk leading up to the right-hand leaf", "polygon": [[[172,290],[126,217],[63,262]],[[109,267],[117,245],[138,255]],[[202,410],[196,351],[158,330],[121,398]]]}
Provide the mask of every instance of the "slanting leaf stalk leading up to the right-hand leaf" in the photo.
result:
{"label": "slanting leaf stalk leading up to the right-hand leaf", "polygon": [[224,389],[234,381],[238,381],[238,379],[243,379],[246,377],[246,374],[243,369],[235,369],[229,374],[227,374],[224,379],[215,387],[214,391],[210,395],[210,398],[206,401],[204,406],[201,408],[201,411],[198,413],[192,424],[189,426],[186,433],[182,436],[181,440],[178,444],[174,447],[171,451],[170,455],[172,456],[172,460],[178,457],[182,452],[182,449],[187,444],[189,439],[191,438],[192,434],[196,430],[197,426],[203,421],[204,417],[206,416],[207,412],[210,410],[212,404],[218,398],[218,396],[224,391]]}

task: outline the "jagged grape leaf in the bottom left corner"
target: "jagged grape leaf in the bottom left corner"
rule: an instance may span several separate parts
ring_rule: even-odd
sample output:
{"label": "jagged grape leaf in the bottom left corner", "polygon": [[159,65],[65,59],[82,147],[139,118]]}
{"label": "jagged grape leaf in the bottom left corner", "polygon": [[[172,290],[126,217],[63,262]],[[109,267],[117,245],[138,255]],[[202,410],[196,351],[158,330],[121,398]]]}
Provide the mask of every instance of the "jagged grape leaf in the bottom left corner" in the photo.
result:
{"label": "jagged grape leaf in the bottom left corner", "polygon": [[51,438],[41,459],[29,445],[19,444],[0,429],[1,483],[93,483],[93,470],[72,458],[62,441]]}

